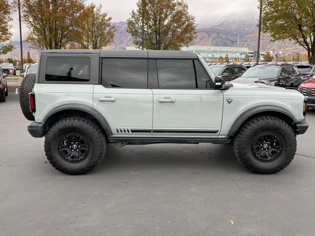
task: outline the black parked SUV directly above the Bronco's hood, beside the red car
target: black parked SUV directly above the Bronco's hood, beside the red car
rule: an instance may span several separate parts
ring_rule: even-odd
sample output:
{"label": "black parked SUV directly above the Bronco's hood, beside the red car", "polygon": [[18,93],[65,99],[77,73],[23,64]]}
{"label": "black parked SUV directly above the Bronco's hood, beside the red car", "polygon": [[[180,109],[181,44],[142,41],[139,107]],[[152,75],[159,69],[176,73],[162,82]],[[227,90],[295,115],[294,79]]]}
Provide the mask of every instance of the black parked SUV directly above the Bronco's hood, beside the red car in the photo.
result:
{"label": "black parked SUV directly above the Bronco's hood, beside the red car", "polygon": [[265,64],[249,68],[241,77],[233,81],[263,83],[280,87],[298,87],[304,80],[295,65]]}

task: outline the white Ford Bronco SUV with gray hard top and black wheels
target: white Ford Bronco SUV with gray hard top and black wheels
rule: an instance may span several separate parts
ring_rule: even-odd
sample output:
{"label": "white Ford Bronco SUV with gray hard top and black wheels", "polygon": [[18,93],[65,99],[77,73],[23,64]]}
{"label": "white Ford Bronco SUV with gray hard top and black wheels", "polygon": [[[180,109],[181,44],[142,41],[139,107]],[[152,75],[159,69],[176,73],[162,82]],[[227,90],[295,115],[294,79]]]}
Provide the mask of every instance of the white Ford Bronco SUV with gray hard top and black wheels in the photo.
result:
{"label": "white Ford Bronco SUV with gray hard top and black wheels", "polygon": [[95,168],[106,145],[150,143],[233,143],[249,171],[275,173],[308,128],[297,90],[225,83],[192,52],[43,50],[25,88],[29,133],[70,175]]}

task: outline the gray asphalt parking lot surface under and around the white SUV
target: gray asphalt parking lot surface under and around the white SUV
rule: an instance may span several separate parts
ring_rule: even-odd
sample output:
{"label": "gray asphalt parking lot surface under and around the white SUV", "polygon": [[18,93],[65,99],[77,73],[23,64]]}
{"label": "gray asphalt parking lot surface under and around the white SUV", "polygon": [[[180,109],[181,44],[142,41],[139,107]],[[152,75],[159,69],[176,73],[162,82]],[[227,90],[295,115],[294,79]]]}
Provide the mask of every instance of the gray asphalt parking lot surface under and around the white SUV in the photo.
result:
{"label": "gray asphalt parking lot surface under and around the white SUV", "polygon": [[315,109],[277,174],[250,173],[228,144],[152,144],[108,147],[69,176],[27,132],[15,92],[0,103],[0,235],[315,235]]}

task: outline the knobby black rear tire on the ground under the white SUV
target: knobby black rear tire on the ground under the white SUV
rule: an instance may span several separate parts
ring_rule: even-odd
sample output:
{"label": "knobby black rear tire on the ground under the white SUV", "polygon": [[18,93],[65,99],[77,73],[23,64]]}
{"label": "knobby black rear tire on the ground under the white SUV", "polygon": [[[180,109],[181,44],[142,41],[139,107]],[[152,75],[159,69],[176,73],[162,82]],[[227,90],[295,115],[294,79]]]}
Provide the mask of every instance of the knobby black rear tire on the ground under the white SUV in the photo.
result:
{"label": "knobby black rear tire on the ground under the white SUV", "polygon": [[[68,143],[68,134],[70,137],[73,134],[78,135],[78,138],[81,137],[82,140],[78,143],[75,141]],[[63,143],[63,140],[66,142]],[[87,143],[85,147],[88,147],[88,150],[85,152],[85,157],[76,162],[66,159],[61,150],[65,152],[67,150],[63,149],[65,147],[62,145],[65,144],[66,148],[71,147],[69,151],[74,150],[72,154],[76,155],[76,150],[72,148],[72,145],[76,145],[76,148],[80,149],[80,143],[81,148],[83,147],[82,143]],[[103,159],[106,140],[99,126],[91,120],[83,117],[69,117],[58,121],[49,129],[45,138],[44,149],[47,160],[56,170],[68,175],[82,175],[93,170]]]}

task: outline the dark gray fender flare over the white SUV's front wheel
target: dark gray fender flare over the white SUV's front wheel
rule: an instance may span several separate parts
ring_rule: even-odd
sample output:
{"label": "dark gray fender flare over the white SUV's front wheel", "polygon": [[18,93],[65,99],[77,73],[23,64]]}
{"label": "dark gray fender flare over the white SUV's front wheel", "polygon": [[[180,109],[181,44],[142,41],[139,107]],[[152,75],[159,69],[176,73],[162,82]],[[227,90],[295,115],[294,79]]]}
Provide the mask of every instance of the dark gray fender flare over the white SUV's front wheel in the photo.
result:
{"label": "dark gray fender flare over the white SUV's front wheel", "polygon": [[255,114],[258,114],[261,112],[265,112],[265,111],[274,111],[274,112],[282,113],[282,114],[290,117],[290,119],[294,123],[298,123],[298,121],[295,119],[294,115],[292,115],[292,113],[290,113],[288,110],[285,110],[282,107],[278,107],[278,106],[274,106],[274,105],[261,105],[261,106],[250,108],[249,110],[246,110],[241,115],[239,115],[238,118],[233,122],[227,136],[228,137],[234,136],[244,121],[246,121],[252,115],[255,115]]}

